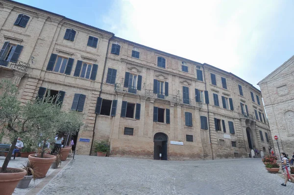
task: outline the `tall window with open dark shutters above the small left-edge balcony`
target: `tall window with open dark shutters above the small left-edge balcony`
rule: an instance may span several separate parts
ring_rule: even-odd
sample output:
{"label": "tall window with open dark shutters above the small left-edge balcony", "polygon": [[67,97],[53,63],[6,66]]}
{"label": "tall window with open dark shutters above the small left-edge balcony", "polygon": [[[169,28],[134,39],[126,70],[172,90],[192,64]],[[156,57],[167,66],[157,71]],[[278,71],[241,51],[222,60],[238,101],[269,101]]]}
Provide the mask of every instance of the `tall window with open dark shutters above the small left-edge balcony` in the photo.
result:
{"label": "tall window with open dark shutters above the small left-edge balcony", "polygon": [[8,62],[17,62],[24,46],[12,45],[9,41],[3,44],[0,51],[0,65],[7,66]]}

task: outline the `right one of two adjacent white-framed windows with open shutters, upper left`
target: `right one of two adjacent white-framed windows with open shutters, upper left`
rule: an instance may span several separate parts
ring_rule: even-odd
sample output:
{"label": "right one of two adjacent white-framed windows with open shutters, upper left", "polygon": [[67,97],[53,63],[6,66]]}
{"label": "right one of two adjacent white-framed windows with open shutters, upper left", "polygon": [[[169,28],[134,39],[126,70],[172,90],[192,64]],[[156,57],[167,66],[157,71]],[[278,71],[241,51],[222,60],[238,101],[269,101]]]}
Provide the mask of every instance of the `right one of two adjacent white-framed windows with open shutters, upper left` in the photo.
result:
{"label": "right one of two adjacent white-framed windows with open shutters, upper left", "polygon": [[92,64],[78,60],[76,63],[73,76],[79,76],[81,78],[87,78],[87,79],[90,78],[91,80],[96,80],[97,71],[98,71],[97,64],[92,65]]}

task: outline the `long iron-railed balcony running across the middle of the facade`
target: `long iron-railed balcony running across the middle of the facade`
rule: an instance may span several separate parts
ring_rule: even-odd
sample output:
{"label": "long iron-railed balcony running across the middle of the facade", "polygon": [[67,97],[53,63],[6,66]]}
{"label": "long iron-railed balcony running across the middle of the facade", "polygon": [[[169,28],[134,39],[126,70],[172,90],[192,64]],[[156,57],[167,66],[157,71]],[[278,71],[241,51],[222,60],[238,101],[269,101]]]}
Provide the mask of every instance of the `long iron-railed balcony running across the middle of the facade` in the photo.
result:
{"label": "long iron-railed balcony running across the middle of the facade", "polygon": [[178,95],[164,94],[164,93],[154,94],[153,90],[144,89],[144,88],[142,88],[141,90],[137,90],[136,87],[131,87],[131,86],[124,87],[123,83],[116,83],[114,90],[115,91],[120,91],[120,92],[130,93],[130,94],[136,94],[136,95],[139,95],[139,96],[153,97],[153,98],[158,98],[158,99],[165,99],[165,100],[176,102],[176,103],[183,103],[183,104],[192,105],[192,106],[202,108],[202,102],[196,102],[195,99],[187,99],[187,98],[180,97]]}

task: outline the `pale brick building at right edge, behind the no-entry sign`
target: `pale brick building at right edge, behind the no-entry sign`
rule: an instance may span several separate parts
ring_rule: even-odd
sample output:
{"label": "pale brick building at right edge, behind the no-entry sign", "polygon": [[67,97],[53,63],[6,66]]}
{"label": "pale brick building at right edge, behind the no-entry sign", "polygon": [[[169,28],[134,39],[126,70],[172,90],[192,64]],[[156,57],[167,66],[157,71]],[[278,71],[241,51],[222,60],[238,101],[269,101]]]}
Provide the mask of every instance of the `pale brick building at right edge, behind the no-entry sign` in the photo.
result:
{"label": "pale brick building at right edge, behind the no-entry sign", "polygon": [[[291,154],[294,140],[294,56],[261,80],[258,85],[272,135],[278,136],[280,152]],[[273,142],[277,152],[277,142]]]}

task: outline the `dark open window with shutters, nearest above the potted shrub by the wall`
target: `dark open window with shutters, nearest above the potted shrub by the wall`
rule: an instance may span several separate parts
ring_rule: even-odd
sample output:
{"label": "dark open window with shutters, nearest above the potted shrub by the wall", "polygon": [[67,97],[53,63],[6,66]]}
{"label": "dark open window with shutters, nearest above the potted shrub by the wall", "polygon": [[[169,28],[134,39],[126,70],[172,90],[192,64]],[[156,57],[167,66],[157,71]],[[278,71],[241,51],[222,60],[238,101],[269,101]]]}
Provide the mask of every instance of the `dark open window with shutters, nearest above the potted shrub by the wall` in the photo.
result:
{"label": "dark open window with shutters, nearest above the potted shrub by the wall", "polygon": [[95,113],[98,115],[115,116],[118,100],[97,98]]}

